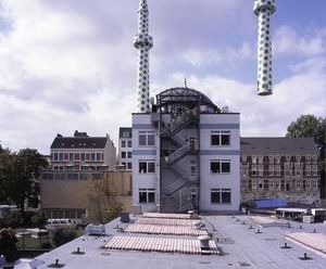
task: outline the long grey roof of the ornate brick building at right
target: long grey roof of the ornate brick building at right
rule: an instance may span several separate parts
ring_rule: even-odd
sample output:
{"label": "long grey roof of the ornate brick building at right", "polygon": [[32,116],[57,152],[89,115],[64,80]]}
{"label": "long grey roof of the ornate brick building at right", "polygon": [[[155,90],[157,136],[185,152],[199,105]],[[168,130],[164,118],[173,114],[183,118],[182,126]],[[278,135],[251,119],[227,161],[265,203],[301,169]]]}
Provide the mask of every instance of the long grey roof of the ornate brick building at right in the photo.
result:
{"label": "long grey roof of the ornate brick building at right", "polygon": [[246,153],[304,153],[315,152],[313,138],[241,138],[241,154]]}

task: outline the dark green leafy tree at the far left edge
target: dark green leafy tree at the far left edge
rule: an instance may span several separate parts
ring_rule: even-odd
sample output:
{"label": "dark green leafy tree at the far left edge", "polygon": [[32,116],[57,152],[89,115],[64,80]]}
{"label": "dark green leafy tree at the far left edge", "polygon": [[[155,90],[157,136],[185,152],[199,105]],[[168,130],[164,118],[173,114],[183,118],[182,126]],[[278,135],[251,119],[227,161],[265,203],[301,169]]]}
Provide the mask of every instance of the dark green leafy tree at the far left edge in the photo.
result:
{"label": "dark green leafy tree at the far left edge", "polygon": [[26,198],[39,194],[39,175],[47,161],[37,150],[23,149],[18,153],[0,154],[0,201],[14,203],[24,216]]}

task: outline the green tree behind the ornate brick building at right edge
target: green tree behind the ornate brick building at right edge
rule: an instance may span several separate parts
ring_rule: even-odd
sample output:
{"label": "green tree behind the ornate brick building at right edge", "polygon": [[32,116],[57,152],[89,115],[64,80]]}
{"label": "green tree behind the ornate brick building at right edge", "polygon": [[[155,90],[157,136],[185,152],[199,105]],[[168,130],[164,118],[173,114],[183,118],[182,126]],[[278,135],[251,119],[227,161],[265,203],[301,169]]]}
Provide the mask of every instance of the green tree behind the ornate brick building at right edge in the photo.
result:
{"label": "green tree behind the ornate brick building at right edge", "polygon": [[314,115],[302,115],[292,121],[287,129],[288,138],[314,138],[318,148],[318,158],[321,163],[321,189],[322,197],[325,197],[325,144],[326,144],[326,117],[315,117]]}

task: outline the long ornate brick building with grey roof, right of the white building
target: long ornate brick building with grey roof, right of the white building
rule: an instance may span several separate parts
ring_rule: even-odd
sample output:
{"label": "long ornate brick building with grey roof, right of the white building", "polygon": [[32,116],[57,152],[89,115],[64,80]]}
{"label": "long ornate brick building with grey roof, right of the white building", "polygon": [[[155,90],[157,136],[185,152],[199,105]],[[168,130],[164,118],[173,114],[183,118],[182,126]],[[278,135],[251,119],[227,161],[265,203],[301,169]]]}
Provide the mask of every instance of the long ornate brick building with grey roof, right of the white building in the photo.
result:
{"label": "long ornate brick building with grey roof, right of the white building", "polygon": [[313,138],[241,138],[241,202],[321,198],[318,152]]}

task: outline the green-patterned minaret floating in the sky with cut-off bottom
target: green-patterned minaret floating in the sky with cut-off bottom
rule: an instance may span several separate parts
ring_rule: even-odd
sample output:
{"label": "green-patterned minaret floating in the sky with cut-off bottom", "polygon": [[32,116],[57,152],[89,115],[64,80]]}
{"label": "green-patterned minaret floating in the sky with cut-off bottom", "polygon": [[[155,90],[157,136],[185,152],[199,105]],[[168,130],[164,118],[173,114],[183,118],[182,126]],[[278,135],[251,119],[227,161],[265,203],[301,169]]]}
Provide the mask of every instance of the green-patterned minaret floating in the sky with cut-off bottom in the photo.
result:
{"label": "green-patterned minaret floating in the sky with cut-off bottom", "polygon": [[258,94],[272,94],[272,40],[271,15],[275,12],[275,0],[255,0],[253,12],[259,17],[258,38]]}

